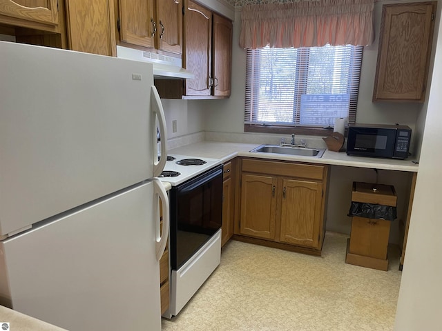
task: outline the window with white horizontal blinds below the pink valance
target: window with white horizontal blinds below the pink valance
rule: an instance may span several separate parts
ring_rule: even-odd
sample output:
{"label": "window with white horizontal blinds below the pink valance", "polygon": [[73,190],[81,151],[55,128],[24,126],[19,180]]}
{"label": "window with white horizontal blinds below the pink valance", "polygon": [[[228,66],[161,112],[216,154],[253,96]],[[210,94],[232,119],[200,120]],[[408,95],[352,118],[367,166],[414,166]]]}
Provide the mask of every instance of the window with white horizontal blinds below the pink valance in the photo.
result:
{"label": "window with white horizontal blinds below the pink valance", "polygon": [[329,45],[247,50],[245,131],[311,131],[334,126],[336,117],[354,123],[362,51]]}

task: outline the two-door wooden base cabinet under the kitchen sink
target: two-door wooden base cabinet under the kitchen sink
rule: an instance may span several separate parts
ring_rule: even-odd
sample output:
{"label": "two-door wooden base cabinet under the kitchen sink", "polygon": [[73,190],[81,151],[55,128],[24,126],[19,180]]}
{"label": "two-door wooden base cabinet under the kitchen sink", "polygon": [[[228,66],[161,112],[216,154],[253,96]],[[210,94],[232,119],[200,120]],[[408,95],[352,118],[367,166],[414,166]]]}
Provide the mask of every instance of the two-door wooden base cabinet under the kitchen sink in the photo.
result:
{"label": "two-door wooden base cabinet under the kitchen sink", "polygon": [[253,237],[256,243],[320,254],[328,170],[327,165],[243,159],[237,239],[253,242],[244,238]]}

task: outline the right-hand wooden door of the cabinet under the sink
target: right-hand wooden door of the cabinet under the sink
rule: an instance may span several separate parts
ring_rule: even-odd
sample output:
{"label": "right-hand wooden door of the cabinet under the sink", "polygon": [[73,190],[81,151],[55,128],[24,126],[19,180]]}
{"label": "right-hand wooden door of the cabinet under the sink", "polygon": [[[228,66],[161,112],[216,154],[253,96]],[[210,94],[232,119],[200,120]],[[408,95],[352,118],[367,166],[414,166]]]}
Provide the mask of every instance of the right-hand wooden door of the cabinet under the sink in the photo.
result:
{"label": "right-hand wooden door of the cabinet under the sink", "polygon": [[318,248],[323,184],[282,181],[280,241]]}

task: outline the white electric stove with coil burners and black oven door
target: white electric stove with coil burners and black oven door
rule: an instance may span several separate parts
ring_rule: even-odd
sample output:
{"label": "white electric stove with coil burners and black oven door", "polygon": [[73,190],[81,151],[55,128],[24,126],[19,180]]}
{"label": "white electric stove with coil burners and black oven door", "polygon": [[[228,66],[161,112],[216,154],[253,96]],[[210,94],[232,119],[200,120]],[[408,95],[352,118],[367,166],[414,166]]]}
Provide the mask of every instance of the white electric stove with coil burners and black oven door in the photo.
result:
{"label": "white electric stove with coil burners and black oven door", "polygon": [[[190,165],[184,165],[184,164]],[[165,177],[176,172],[175,177]],[[220,264],[222,162],[168,154],[160,177],[169,190],[171,266],[170,306],[163,317],[176,316]]]}

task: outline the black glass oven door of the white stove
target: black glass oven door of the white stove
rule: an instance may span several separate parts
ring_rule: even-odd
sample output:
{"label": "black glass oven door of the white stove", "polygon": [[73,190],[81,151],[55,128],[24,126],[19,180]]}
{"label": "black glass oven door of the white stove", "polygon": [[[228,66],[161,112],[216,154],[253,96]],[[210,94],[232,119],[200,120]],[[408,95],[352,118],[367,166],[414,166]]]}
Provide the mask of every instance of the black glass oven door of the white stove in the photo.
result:
{"label": "black glass oven door of the white stove", "polygon": [[178,270],[221,228],[222,165],[171,190],[171,268]]}

